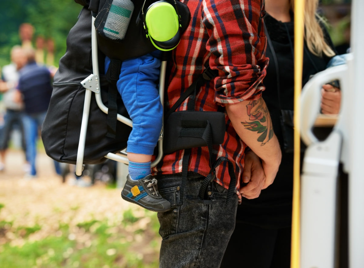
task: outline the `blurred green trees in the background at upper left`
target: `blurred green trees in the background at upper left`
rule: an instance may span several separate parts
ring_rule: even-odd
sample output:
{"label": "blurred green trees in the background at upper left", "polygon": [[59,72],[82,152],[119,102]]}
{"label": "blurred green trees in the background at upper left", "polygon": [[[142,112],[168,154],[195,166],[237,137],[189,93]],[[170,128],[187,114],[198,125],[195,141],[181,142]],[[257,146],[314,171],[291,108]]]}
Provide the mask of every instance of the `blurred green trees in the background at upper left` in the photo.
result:
{"label": "blurred green trees in the background at upper left", "polygon": [[21,44],[19,26],[34,26],[33,46],[38,36],[53,40],[54,65],[66,51],[66,37],[76,23],[82,6],[73,0],[11,0],[1,1],[0,16],[0,66],[9,63],[11,47]]}

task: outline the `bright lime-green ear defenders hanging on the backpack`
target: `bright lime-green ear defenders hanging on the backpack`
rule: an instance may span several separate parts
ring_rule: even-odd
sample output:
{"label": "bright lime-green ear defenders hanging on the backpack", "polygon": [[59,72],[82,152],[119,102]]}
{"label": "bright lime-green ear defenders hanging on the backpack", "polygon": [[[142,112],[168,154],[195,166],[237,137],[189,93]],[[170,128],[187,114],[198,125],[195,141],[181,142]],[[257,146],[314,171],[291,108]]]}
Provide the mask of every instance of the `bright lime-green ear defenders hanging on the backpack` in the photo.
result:
{"label": "bright lime-green ear defenders hanging on the backpack", "polygon": [[154,2],[144,13],[146,1],[142,7],[142,18],[147,38],[159,50],[173,50],[181,38],[181,17],[176,1],[173,0],[174,7],[164,0]]}

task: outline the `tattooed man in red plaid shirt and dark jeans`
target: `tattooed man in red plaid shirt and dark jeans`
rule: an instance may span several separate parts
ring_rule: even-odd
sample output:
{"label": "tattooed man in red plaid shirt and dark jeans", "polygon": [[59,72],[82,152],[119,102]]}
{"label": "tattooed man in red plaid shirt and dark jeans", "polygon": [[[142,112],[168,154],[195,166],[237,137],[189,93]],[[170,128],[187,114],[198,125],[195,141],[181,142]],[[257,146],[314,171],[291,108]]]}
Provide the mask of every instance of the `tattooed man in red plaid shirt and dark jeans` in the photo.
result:
{"label": "tattooed man in red plaid shirt and dark jeans", "polygon": [[[216,155],[229,159],[236,178],[243,178],[248,184],[241,187],[237,180],[237,194],[226,205],[230,176],[224,161],[208,186],[211,204],[192,200],[198,196],[201,183],[210,173],[207,146],[191,149],[184,186],[182,159],[186,150],[165,155],[154,169],[158,171],[159,193],[172,206],[171,210],[158,213],[159,233],[163,238],[160,267],[219,267],[234,230],[239,199],[258,197],[262,189],[272,184],[281,161],[270,115],[261,98],[265,89],[262,79],[268,64],[261,19],[263,1],[183,2],[189,7],[192,18],[169,59],[166,107],[173,106],[181,91],[198,78],[206,65],[216,70],[217,76],[197,89],[195,110],[225,112],[224,141],[213,150]],[[189,98],[177,110],[186,110],[187,103]],[[263,176],[243,175],[247,146],[260,158]],[[252,172],[256,168],[261,170],[257,161],[250,163],[250,167]]]}

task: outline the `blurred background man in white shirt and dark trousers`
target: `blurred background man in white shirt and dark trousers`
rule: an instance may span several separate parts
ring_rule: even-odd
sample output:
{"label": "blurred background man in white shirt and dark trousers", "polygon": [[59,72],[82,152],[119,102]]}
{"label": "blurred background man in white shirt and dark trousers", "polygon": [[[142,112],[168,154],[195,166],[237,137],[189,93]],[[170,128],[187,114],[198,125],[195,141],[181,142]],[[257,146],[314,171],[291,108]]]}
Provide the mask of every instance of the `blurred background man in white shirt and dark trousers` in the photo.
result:
{"label": "blurred background man in white shirt and dark trousers", "polygon": [[22,123],[24,104],[22,101],[15,101],[19,80],[19,70],[27,63],[27,58],[20,46],[14,46],[10,52],[11,63],[3,67],[0,80],[0,92],[3,95],[3,103],[6,109],[4,115],[3,134],[0,137],[0,171],[5,168],[5,156],[9,146],[11,132],[16,126],[21,132],[21,146],[25,152],[25,139]]}

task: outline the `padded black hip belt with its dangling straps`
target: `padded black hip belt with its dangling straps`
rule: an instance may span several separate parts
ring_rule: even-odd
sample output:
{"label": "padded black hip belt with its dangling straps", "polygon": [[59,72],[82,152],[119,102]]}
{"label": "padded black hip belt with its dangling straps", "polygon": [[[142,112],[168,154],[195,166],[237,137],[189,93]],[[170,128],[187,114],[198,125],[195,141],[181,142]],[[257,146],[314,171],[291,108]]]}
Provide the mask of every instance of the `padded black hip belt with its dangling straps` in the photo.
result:
{"label": "padded black hip belt with its dangling straps", "polygon": [[[188,165],[191,148],[207,146],[209,149],[209,164],[211,167],[209,175],[202,182],[198,196],[187,197],[191,202],[202,202],[203,204],[211,204],[207,192],[207,185],[215,178],[216,167],[222,162],[228,163],[230,184],[227,191],[226,204],[229,203],[235,191],[236,177],[233,163],[226,157],[218,157],[213,150],[213,145],[219,145],[224,141],[226,133],[225,114],[218,111],[195,111],[195,98],[197,89],[203,83],[210,81],[217,75],[216,71],[206,67],[198,79],[187,88],[177,100],[176,103],[165,113],[164,136],[163,136],[163,153],[170,154],[177,150],[185,150],[182,157],[182,181],[180,188],[180,196],[182,204],[184,197],[184,188],[187,180]],[[182,102],[189,98],[187,110],[175,111]]]}

